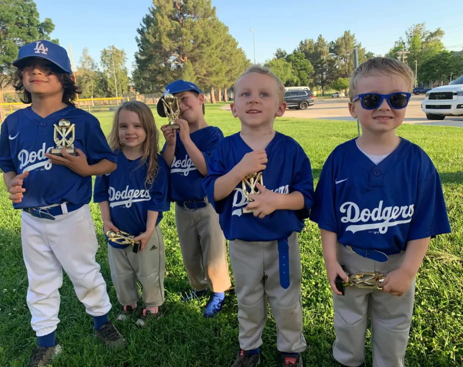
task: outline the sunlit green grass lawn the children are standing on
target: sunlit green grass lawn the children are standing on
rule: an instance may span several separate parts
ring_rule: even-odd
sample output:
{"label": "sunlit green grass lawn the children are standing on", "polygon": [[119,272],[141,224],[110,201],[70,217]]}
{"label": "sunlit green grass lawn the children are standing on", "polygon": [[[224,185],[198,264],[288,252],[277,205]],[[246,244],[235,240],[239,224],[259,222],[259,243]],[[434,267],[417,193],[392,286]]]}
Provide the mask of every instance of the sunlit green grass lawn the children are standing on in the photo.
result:
{"label": "sunlit green grass lawn the children are standing on", "polygon": [[[206,119],[219,126],[225,135],[239,130],[239,122],[223,104],[207,106]],[[113,113],[96,114],[105,133],[109,132]],[[156,115],[155,115],[156,116]],[[156,118],[158,127],[165,119]],[[294,137],[307,152],[315,181],[332,149],[356,135],[356,124],[345,121],[280,118],[276,130]],[[415,312],[407,349],[406,364],[414,367],[463,366],[463,130],[454,127],[404,125],[398,134],[419,144],[437,166],[447,200],[452,233],[433,239],[428,256],[417,277]],[[161,135],[161,144],[164,139]],[[35,335],[25,303],[27,276],[21,257],[20,215],[13,210],[5,189],[0,192],[3,215],[0,218],[0,366],[25,366]],[[97,261],[108,284],[110,298],[118,309],[111,285],[102,223],[97,205],[91,204],[98,230],[100,249]],[[133,322],[119,324],[128,340],[128,348],[112,352],[92,335],[92,319],[78,302],[67,277],[61,288],[61,323],[57,338],[64,347],[55,366],[230,366],[238,349],[236,298],[227,296],[227,305],[217,318],[204,319],[201,310],[206,301],[180,302],[181,292],[189,288],[178,246],[173,211],[162,223],[166,242],[167,274],[164,317],[139,330]],[[334,341],[331,292],[325,277],[320,235],[310,221],[300,234],[302,258],[302,302],[304,335],[308,348],[304,365],[331,367]],[[263,333],[262,366],[277,366],[275,323],[270,317]],[[384,346],[387,348],[387,346]],[[371,349],[367,343],[367,364]]]}

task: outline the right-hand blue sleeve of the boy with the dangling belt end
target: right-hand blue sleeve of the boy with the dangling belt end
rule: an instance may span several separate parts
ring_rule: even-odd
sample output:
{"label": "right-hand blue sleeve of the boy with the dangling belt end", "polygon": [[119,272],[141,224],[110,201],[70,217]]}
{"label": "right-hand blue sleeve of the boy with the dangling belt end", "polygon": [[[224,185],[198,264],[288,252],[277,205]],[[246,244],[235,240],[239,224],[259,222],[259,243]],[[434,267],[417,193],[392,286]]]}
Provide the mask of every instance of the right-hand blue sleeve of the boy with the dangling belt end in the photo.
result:
{"label": "right-hand blue sleeve of the boy with the dangling belt end", "polygon": [[304,197],[304,208],[297,210],[296,215],[300,219],[309,216],[309,210],[313,204],[313,178],[310,161],[301,146],[297,145],[296,156],[293,162],[293,180],[290,192],[299,191]]}

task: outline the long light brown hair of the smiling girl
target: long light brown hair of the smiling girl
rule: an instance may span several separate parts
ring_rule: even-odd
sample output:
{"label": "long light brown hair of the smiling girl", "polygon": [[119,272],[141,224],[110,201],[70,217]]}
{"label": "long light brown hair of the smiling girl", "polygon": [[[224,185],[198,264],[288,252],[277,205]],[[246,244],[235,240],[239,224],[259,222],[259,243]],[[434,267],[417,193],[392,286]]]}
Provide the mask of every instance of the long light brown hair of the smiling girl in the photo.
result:
{"label": "long light brown hair of the smiling girl", "polygon": [[146,140],[143,143],[143,156],[140,160],[140,166],[148,162],[146,173],[145,187],[151,187],[156,175],[158,174],[158,152],[159,152],[159,132],[154,122],[154,116],[151,109],[140,101],[127,101],[122,103],[114,115],[113,127],[109,134],[109,146],[113,151],[122,151],[122,144],[119,139],[119,112],[127,110],[135,112],[138,115],[143,129],[145,129]]}

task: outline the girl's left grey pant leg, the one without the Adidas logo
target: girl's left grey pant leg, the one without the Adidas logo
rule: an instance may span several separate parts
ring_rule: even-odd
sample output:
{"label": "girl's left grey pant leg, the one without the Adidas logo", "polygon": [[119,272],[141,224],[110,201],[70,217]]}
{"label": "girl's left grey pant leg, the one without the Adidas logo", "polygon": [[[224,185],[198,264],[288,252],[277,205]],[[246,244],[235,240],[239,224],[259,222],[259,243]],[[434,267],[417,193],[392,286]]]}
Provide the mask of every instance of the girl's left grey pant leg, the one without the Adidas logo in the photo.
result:
{"label": "girl's left grey pant leg, the one without the Adidas logo", "polygon": [[129,255],[132,246],[114,248],[108,243],[108,261],[111,280],[116,290],[117,300],[122,306],[133,305],[140,299],[137,287],[137,276]]}

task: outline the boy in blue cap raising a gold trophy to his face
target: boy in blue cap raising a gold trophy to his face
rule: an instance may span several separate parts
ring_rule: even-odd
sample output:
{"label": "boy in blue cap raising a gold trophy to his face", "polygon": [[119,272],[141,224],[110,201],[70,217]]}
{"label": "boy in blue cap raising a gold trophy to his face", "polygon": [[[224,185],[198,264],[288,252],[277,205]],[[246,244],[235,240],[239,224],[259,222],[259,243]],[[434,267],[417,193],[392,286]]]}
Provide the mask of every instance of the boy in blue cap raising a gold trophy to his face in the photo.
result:
{"label": "boy in blue cap raising a gold trophy to his face", "polygon": [[[201,182],[208,173],[207,161],[224,135],[218,127],[206,123],[204,95],[196,84],[176,80],[166,86],[164,94],[167,93],[178,99],[180,108],[175,121],[180,129],[164,125],[161,130],[166,139],[162,155],[171,167],[170,196],[176,203],[180,248],[192,287],[184,300],[206,295],[209,287],[212,294],[203,315],[213,317],[222,310],[231,282],[219,216],[206,198]],[[163,98],[157,110],[161,117],[166,117]]]}

